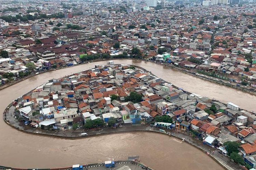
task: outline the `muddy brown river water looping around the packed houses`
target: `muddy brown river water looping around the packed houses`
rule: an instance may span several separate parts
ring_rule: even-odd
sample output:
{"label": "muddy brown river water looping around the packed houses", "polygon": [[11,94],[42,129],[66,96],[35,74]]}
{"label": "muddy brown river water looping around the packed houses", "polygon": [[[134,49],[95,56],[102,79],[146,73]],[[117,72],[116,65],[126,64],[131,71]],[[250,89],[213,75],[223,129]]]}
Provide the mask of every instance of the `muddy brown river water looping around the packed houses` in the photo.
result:
{"label": "muddy brown river water looping around the packed houses", "polygon": [[[233,102],[241,108],[253,110],[255,96],[230,87],[141,60],[115,60],[115,63],[133,64],[152,71],[158,77],[185,90]],[[106,61],[79,65],[39,74],[9,88],[0,90],[0,111],[14,99],[52,78],[104,65]],[[100,163],[109,158],[126,160],[128,155],[139,155],[141,161],[154,168],[168,169],[223,169],[200,150],[178,139],[155,133],[112,134],[85,139],[61,139],[32,135],[17,131],[0,120],[0,165],[18,168],[67,167],[73,164]]]}

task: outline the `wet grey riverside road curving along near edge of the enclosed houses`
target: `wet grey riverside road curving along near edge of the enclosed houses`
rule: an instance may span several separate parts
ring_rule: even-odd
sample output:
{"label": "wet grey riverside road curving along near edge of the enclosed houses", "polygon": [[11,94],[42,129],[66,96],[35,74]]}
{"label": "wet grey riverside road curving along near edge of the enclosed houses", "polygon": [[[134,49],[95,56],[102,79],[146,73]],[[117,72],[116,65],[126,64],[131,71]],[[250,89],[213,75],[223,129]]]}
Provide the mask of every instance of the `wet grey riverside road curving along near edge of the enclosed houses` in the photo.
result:
{"label": "wet grey riverside road curving along near edge of the enclosed houses", "polygon": [[[81,137],[92,137],[97,135],[104,135],[104,134],[110,134],[110,133],[125,133],[125,132],[136,132],[136,131],[145,131],[145,132],[155,132],[155,133],[162,133],[159,132],[160,128],[156,128],[154,126],[146,126],[146,125],[138,125],[138,126],[123,126],[122,128],[103,128],[103,129],[95,129],[95,130],[75,130],[75,131],[52,131],[52,130],[44,130],[39,128],[33,128],[29,125],[24,125],[23,123],[20,123],[17,119],[14,118],[14,109],[15,106],[10,106],[8,110],[6,110],[6,114],[4,115],[5,122],[9,125],[17,128],[20,131],[23,131],[24,133],[33,133],[33,134],[41,134],[41,135],[51,135],[56,137],[65,137],[65,138],[81,138]],[[204,145],[201,141],[192,138],[191,136],[187,135],[186,133],[180,133],[173,130],[165,129],[167,133],[162,133],[163,135],[169,135],[170,137],[176,137],[181,140],[184,140],[183,142],[188,142],[191,145],[197,147],[198,149],[202,150],[205,154],[205,156],[211,156],[216,162],[221,164],[223,167],[225,167],[228,170],[239,170],[241,169],[237,164],[233,163],[229,158],[226,156],[220,154],[217,150],[214,148]],[[81,133],[87,133],[87,136],[82,136]],[[214,155],[207,155],[206,153],[209,152],[209,149],[211,151],[214,151]]]}

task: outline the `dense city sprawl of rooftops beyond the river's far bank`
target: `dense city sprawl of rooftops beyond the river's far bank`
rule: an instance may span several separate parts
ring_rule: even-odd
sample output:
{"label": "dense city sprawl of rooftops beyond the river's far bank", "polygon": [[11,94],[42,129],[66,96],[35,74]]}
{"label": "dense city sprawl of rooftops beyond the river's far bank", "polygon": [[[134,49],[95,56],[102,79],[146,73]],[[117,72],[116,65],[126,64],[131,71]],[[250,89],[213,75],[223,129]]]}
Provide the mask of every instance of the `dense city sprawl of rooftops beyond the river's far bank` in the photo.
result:
{"label": "dense city sprawl of rooftops beyond the river's far bank", "polygon": [[255,5],[230,2],[2,3],[0,83],[90,60],[141,58],[254,91]]}

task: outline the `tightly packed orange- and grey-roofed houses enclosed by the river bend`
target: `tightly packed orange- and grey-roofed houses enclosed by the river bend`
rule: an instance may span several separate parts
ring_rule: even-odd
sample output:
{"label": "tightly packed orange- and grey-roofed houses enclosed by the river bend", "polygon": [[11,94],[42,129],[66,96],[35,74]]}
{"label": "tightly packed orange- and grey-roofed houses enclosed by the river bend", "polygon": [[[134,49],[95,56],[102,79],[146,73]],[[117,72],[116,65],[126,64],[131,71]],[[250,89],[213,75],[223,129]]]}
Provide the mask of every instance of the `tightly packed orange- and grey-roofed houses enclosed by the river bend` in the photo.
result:
{"label": "tightly packed orange- and grey-roofed houses enclosed by the river bend", "polygon": [[[191,94],[140,67],[113,61],[95,65],[49,80],[15,104],[16,118],[31,128],[72,131],[151,124],[189,132],[225,155],[242,155],[255,167],[254,113]],[[237,150],[227,149],[232,145]]]}

